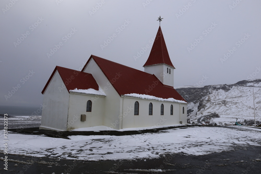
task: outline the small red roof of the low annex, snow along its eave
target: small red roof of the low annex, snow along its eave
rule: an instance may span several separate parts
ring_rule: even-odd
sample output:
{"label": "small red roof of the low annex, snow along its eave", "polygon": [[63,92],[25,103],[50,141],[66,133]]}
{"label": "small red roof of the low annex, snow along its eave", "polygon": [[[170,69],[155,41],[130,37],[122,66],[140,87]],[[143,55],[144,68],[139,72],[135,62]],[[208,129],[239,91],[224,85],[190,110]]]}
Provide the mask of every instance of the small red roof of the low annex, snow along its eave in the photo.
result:
{"label": "small red roof of the low annex, snow along its eave", "polygon": [[97,84],[96,80],[93,78],[93,76],[91,74],[56,66],[54,71],[52,72],[52,75],[50,76],[49,80],[47,81],[47,83],[42,91],[42,94],[44,93],[45,89],[49,85],[56,70],[60,74],[60,76],[63,80],[63,83],[66,86],[66,89],[68,90],[68,92],[69,92],[69,90],[73,90],[75,88],[77,88],[77,89],[92,88],[97,91],[99,90],[99,85]]}

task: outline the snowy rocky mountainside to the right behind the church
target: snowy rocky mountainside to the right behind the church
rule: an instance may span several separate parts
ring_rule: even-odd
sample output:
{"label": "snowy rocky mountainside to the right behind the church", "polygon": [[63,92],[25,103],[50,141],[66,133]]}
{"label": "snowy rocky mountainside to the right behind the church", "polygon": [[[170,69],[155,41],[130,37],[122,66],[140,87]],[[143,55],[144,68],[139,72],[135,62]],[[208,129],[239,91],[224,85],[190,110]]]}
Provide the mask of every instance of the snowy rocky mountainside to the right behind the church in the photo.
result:
{"label": "snowy rocky mountainside to the right behind the church", "polygon": [[261,121],[261,79],[243,80],[235,84],[185,86],[176,88],[188,104],[188,118],[197,121],[202,116],[217,113],[220,118],[212,119],[215,123],[235,123],[245,119],[254,119],[254,103],[256,120]]}

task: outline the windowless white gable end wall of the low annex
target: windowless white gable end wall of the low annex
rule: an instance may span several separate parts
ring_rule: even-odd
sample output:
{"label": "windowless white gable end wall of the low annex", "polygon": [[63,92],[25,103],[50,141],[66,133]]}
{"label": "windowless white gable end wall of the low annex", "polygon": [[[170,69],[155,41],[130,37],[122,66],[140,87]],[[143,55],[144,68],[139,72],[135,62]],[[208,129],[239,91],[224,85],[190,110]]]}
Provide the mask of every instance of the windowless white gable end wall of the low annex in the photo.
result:
{"label": "windowless white gable end wall of the low annex", "polygon": [[69,107],[69,93],[58,71],[54,74],[44,92],[44,105],[40,129],[66,130]]}

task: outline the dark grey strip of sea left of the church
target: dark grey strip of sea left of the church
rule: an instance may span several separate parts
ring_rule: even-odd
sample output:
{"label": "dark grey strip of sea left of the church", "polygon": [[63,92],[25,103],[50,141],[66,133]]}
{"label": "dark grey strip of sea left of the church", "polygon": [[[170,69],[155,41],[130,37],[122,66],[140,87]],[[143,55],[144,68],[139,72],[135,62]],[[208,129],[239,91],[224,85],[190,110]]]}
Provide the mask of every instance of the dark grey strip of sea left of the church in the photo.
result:
{"label": "dark grey strip of sea left of the church", "polygon": [[[36,111],[36,114],[34,113]],[[37,113],[38,111],[38,113]],[[0,106],[0,114],[8,113],[10,116],[31,116],[42,115],[40,107],[24,107],[24,106]]]}

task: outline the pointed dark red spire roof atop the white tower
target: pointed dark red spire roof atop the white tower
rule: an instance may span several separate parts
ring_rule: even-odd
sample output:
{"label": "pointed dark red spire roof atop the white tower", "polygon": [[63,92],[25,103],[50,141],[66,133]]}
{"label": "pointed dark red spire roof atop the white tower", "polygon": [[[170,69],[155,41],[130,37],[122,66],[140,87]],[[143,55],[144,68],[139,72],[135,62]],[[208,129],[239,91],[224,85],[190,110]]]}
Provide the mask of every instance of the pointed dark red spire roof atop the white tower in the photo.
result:
{"label": "pointed dark red spire roof atop the white tower", "polygon": [[174,68],[169,58],[169,53],[161,31],[161,26],[159,26],[156,38],[152,45],[150,56],[147,59],[147,62],[143,65],[143,67],[156,64],[167,64],[170,67]]}

